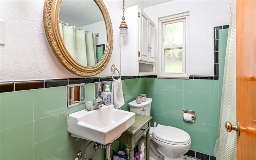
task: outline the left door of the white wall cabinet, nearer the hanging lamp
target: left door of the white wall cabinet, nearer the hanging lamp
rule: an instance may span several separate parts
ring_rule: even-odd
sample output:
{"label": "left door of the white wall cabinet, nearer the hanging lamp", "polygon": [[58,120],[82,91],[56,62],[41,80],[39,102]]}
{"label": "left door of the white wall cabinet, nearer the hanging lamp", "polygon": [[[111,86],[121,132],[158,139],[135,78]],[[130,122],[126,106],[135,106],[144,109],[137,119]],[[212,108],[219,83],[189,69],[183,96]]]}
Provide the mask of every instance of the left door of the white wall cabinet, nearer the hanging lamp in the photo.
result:
{"label": "left door of the white wall cabinet, nearer the hanging lamp", "polygon": [[149,18],[148,16],[140,11],[140,17],[139,17],[139,51],[140,51],[140,58],[139,60],[148,61],[148,50],[149,50],[149,42],[148,42],[148,24],[149,24]]}

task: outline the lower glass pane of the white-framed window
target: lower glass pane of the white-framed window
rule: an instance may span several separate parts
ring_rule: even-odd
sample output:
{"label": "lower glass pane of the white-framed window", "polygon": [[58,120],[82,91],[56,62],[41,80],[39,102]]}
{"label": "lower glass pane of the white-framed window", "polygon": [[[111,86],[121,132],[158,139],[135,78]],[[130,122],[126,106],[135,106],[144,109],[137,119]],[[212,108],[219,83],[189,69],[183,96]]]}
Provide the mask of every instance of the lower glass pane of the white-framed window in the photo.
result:
{"label": "lower glass pane of the white-framed window", "polygon": [[182,48],[164,50],[164,72],[182,72]]}

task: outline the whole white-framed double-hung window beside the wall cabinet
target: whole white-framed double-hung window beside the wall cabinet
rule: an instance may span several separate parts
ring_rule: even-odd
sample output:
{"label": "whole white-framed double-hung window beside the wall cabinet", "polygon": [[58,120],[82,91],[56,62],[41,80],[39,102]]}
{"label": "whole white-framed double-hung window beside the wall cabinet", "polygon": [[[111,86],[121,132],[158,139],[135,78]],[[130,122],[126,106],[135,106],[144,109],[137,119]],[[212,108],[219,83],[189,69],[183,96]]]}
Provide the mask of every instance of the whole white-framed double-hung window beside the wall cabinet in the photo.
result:
{"label": "whole white-framed double-hung window beside the wall cabinet", "polygon": [[158,77],[189,78],[189,12],[159,18]]}

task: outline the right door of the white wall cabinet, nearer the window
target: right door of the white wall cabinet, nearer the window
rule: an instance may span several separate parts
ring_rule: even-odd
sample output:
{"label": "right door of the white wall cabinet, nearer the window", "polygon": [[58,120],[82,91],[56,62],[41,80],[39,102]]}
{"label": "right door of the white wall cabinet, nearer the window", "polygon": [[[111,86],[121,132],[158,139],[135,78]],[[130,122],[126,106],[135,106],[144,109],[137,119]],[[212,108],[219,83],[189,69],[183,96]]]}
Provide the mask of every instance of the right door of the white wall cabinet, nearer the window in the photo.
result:
{"label": "right door of the white wall cabinet, nearer the window", "polygon": [[152,20],[149,20],[149,62],[155,62],[155,44],[156,44],[156,25]]}

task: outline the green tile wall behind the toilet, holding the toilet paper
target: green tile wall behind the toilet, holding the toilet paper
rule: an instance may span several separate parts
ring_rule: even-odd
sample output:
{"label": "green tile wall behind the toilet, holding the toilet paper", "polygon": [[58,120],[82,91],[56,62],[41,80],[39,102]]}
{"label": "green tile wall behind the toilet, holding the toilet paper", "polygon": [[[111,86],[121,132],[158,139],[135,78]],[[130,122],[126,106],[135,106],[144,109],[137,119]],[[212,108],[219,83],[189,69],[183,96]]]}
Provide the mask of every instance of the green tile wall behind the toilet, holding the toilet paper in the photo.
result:
{"label": "green tile wall behind the toilet, holding the toilet paper", "polygon": [[[190,134],[190,149],[213,156],[218,132],[228,29],[219,30],[219,80],[144,78],[152,98],[151,124],[163,124]],[[183,121],[183,109],[196,111],[196,123]]]}

